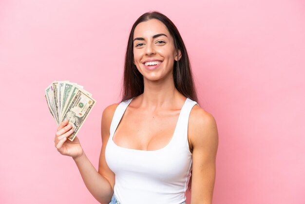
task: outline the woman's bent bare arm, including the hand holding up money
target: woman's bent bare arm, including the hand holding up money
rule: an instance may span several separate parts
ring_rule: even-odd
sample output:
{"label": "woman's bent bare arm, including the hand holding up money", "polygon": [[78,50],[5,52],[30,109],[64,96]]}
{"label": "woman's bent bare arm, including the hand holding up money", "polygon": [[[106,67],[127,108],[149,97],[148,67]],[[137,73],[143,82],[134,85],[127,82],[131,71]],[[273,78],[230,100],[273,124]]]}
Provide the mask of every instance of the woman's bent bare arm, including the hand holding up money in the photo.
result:
{"label": "woman's bent bare arm, including the hand holding up money", "polygon": [[102,115],[102,148],[99,158],[99,167],[96,171],[95,167],[87,158],[82,150],[78,138],[73,142],[67,140],[72,134],[71,126],[68,121],[62,122],[56,133],[55,146],[62,155],[71,156],[81,174],[81,177],[95,199],[101,204],[109,204],[113,195],[114,173],[109,169],[105,160],[105,148],[109,139],[110,124],[114,115],[117,104],[113,104],[105,108]]}

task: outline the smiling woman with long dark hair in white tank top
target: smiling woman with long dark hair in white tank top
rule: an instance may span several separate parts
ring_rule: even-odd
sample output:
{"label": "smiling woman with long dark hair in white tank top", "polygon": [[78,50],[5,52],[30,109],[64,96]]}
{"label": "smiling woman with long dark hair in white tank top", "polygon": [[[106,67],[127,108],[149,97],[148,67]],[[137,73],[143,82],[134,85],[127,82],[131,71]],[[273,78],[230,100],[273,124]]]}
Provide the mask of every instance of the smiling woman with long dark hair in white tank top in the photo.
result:
{"label": "smiling woman with long dark hair in white tank top", "polygon": [[182,38],[166,16],[145,13],[133,24],[125,59],[123,99],[101,121],[98,171],[68,120],[55,146],[71,156],[102,204],[211,204],[218,146],[216,122],[200,108]]}

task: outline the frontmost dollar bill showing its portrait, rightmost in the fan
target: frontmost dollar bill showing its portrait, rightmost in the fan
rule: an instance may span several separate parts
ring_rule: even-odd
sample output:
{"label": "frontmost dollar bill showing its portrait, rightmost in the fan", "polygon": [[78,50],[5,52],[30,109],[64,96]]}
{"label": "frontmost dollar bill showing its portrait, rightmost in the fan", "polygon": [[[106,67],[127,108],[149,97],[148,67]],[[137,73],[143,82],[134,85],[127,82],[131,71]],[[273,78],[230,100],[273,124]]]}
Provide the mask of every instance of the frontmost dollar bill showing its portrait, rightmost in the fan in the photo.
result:
{"label": "frontmost dollar bill showing its portrait, rightmost in the fan", "polygon": [[77,90],[73,101],[68,106],[62,118],[62,121],[68,119],[69,123],[73,126],[74,132],[68,137],[70,141],[74,140],[94,105],[95,100],[92,97],[88,96],[82,89]]}

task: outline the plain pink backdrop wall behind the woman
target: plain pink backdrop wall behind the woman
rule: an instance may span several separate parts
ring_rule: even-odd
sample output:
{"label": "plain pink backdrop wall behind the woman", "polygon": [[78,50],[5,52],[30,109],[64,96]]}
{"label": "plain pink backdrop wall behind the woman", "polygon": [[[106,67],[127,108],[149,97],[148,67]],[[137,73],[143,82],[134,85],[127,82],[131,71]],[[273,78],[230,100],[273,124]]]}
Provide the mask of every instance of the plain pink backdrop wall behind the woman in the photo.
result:
{"label": "plain pink backdrop wall behind the woman", "polygon": [[305,204],[303,0],[1,0],[0,203],[97,203],[54,147],[54,80],[97,100],[79,133],[97,168],[103,109],[119,101],[129,31],[157,10],[188,48],[219,129],[214,204]]}

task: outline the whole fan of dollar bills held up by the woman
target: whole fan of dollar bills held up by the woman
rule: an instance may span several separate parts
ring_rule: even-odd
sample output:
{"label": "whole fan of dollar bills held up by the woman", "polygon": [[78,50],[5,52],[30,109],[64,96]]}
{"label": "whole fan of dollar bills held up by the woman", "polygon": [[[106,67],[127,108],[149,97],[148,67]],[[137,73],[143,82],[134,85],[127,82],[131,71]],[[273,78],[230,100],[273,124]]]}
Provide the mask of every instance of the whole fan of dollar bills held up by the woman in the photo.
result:
{"label": "whole fan of dollar bills held up by the woman", "polygon": [[74,140],[96,102],[83,88],[77,83],[60,81],[52,82],[45,89],[45,99],[57,126],[65,119],[72,125],[74,132],[68,137],[70,141]]}

